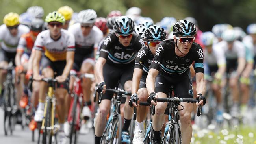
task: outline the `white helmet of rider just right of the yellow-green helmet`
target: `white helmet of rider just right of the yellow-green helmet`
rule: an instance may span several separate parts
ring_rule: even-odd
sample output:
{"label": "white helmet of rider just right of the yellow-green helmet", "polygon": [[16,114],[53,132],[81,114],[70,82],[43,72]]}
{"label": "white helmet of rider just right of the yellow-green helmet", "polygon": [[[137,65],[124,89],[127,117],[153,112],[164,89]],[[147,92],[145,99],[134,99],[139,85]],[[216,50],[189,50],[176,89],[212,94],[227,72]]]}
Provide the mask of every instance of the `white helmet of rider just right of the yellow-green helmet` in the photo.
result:
{"label": "white helmet of rider just right of the yellow-green helmet", "polygon": [[94,24],[97,14],[93,9],[82,10],[78,13],[78,22],[83,24]]}

